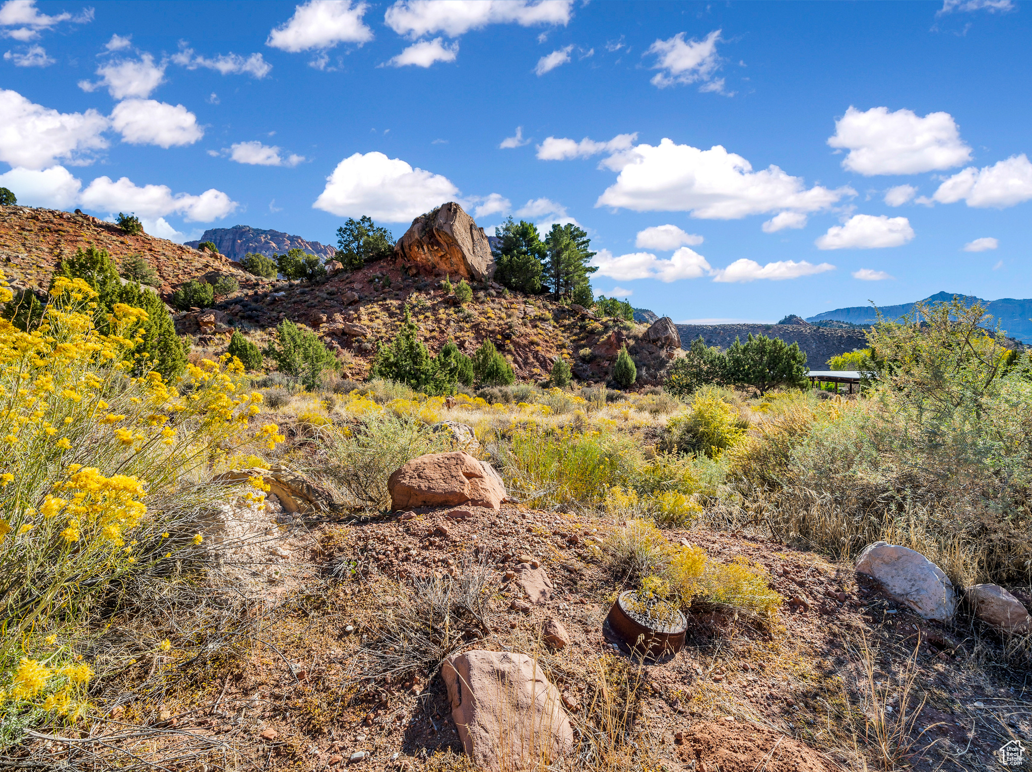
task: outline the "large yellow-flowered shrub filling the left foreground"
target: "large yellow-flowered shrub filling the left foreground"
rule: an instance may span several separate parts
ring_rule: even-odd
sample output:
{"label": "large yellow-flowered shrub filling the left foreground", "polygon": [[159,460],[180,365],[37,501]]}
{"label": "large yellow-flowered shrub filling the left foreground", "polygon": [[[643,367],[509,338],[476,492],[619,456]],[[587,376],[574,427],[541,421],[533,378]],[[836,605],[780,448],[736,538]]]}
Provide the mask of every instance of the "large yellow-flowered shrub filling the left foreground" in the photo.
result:
{"label": "large yellow-flowered shrub filling the left foreground", "polygon": [[200,551],[197,513],[223,494],[202,482],[212,455],[283,439],[249,431],[261,398],[241,395],[237,368],[191,367],[179,391],[154,371],[130,378],[142,312],[117,304],[103,334],[84,279],[58,275],[51,296],[45,331],[0,323],[4,740],[89,709],[80,626],[101,597],[121,603],[133,577]]}

